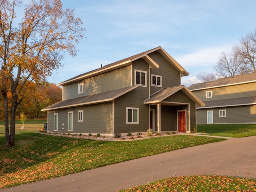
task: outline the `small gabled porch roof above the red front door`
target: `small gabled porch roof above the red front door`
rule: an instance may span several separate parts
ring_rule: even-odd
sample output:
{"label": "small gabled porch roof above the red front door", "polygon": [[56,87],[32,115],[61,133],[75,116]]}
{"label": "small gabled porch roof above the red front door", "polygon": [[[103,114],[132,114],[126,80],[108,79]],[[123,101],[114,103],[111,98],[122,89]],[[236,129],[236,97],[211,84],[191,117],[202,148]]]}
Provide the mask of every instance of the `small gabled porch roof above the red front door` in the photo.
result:
{"label": "small gabled porch roof above the red front door", "polygon": [[172,96],[174,93],[182,91],[186,96],[188,96],[191,100],[193,100],[197,106],[204,106],[204,102],[202,102],[194,93],[192,93],[188,88],[186,88],[184,85],[181,86],[175,86],[175,87],[168,87],[168,88],[162,88],[158,92],[155,92],[144,101],[144,104],[152,104],[152,103],[159,103],[165,100],[166,98]]}

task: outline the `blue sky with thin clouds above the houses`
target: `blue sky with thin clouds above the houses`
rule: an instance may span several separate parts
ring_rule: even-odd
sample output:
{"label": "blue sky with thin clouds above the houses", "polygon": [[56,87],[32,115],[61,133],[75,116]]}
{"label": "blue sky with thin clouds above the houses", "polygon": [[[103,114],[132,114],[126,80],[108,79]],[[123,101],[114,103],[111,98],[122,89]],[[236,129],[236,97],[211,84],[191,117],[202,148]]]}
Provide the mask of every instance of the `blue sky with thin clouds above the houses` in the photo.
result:
{"label": "blue sky with thin clouds above the houses", "polygon": [[255,0],[62,0],[86,28],[75,58],[50,82],[56,84],[106,64],[162,46],[190,76],[214,72],[221,52],[256,28]]}

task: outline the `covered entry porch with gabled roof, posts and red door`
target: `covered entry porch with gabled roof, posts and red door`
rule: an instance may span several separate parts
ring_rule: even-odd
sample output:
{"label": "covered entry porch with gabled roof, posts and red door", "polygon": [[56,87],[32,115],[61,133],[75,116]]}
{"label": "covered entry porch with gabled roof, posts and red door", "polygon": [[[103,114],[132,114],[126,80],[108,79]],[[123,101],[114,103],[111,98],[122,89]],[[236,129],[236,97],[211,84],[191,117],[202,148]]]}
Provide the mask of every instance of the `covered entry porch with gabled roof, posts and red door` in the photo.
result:
{"label": "covered entry porch with gabled roof, posts and red door", "polygon": [[204,106],[185,86],[163,88],[144,101],[149,104],[154,132],[191,132],[196,126],[196,106]]}

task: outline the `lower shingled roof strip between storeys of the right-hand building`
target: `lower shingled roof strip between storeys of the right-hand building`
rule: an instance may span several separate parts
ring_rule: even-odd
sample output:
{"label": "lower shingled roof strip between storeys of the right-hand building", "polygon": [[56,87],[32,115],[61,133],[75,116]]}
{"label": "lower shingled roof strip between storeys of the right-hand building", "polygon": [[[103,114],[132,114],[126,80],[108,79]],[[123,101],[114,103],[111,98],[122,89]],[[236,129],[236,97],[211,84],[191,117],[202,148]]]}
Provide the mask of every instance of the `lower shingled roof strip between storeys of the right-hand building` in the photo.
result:
{"label": "lower shingled roof strip between storeys of the right-hand building", "polygon": [[241,98],[229,98],[214,101],[204,101],[205,106],[198,108],[217,108],[217,107],[228,107],[228,106],[244,106],[244,105],[255,105],[256,96],[241,97]]}

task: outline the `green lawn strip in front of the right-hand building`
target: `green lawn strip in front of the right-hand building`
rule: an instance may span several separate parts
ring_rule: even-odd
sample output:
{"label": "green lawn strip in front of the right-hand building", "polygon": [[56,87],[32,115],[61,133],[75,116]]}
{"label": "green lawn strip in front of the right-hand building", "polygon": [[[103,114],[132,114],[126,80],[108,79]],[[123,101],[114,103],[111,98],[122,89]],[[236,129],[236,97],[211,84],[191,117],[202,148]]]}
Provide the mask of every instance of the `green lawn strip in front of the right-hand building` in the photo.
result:
{"label": "green lawn strip in front of the right-hand building", "polygon": [[197,125],[197,132],[224,137],[249,137],[256,135],[255,124],[204,124]]}

